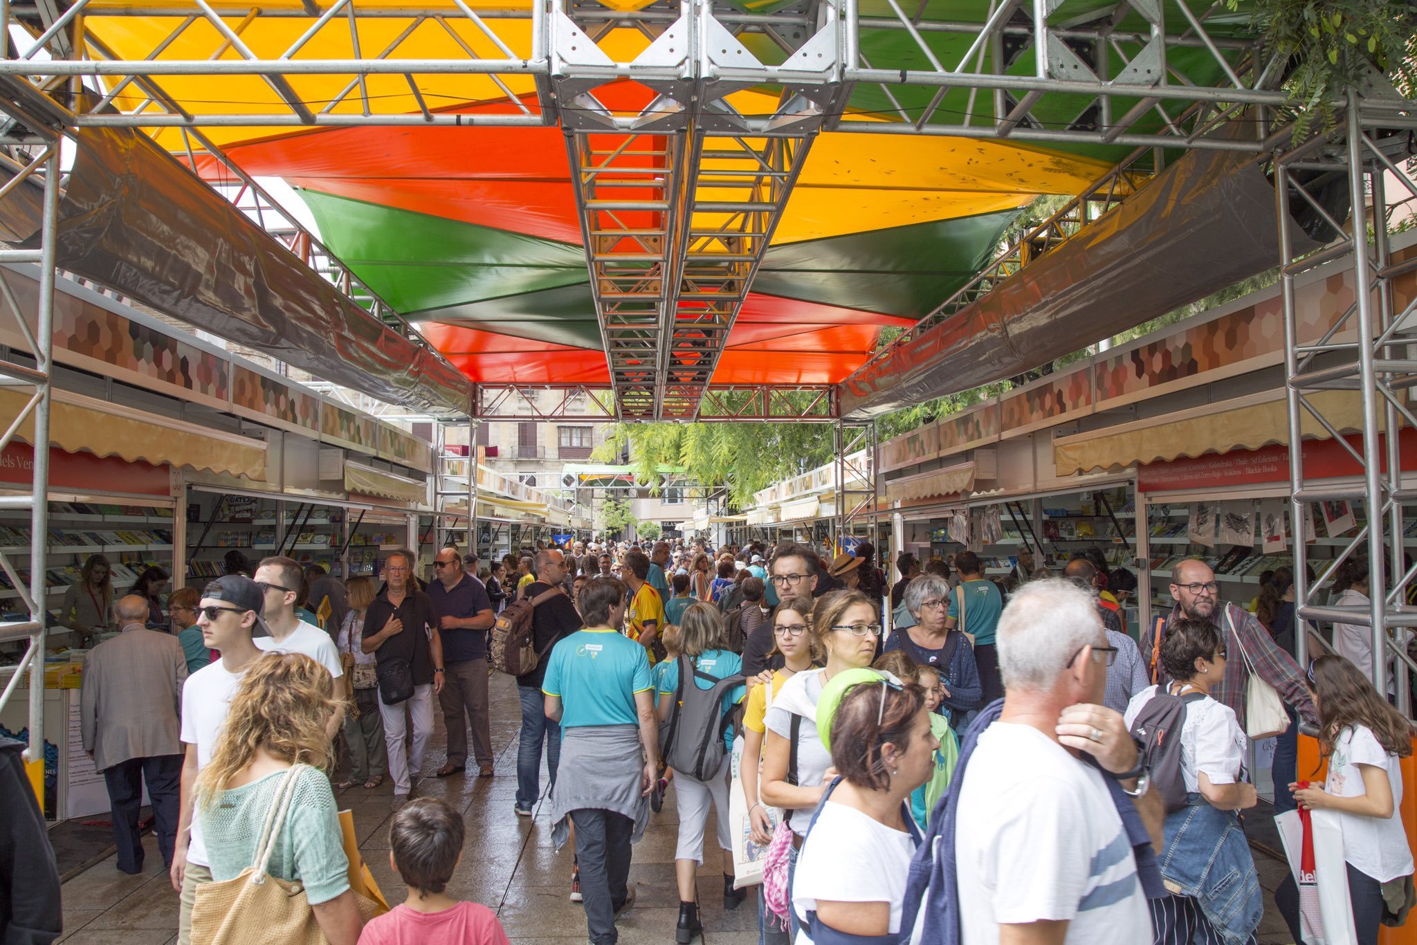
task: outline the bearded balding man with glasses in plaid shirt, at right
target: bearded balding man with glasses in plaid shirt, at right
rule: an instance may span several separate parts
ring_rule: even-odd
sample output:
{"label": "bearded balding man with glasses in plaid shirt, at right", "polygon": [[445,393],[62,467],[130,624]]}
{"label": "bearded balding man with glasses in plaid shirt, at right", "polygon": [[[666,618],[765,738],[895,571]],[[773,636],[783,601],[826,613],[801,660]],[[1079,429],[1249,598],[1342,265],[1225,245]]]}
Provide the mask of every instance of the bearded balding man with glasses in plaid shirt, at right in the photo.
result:
{"label": "bearded balding man with glasses in plaid shirt, at right", "polygon": [[1318,711],[1309,690],[1304,684],[1304,672],[1294,657],[1274,642],[1264,625],[1243,606],[1220,599],[1216,572],[1204,561],[1186,560],[1170,572],[1170,596],[1176,606],[1170,613],[1158,616],[1149,628],[1142,628],[1141,652],[1152,681],[1165,672],[1159,666],[1159,640],[1165,639],[1170,622],[1178,616],[1193,621],[1209,621],[1220,630],[1227,652],[1236,657],[1226,663],[1226,674],[1210,691],[1210,696],[1231,710],[1240,728],[1246,730],[1246,693],[1250,687],[1250,666],[1260,679],[1274,686],[1284,704],[1299,713],[1311,725],[1318,725]]}

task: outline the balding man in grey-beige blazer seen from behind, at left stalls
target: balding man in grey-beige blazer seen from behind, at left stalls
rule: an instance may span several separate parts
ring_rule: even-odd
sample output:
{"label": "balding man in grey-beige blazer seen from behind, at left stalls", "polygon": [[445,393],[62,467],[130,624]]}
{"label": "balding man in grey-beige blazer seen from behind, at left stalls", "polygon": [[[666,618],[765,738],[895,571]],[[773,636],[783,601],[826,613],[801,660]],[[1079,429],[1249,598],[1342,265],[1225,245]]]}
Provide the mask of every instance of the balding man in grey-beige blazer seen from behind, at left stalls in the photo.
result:
{"label": "balding man in grey-beige blazer seen from behind, at left stalls", "polygon": [[84,664],[79,728],[84,751],[102,772],[113,812],[118,868],[143,871],[137,812],[143,782],[153,802],[157,850],[171,866],[181,791],[181,687],[187,656],[171,633],[149,630],[147,598],[115,605],[122,633],[99,643]]}

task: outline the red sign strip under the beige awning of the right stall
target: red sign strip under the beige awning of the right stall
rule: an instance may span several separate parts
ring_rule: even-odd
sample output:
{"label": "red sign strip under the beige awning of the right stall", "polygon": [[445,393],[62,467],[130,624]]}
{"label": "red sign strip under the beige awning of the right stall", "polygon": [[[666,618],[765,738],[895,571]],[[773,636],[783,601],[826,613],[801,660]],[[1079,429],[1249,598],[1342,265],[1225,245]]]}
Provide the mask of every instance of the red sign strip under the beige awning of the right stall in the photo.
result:
{"label": "red sign strip under the beige awning of the right stall", "polygon": [[[1362,438],[1346,438],[1362,451]],[[1417,431],[1403,429],[1399,436],[1403,469],[1417,469]],[[1304,475],[1308,479],[1359,476],[1362,468],[1340,443],[1332,439],[1304,441]],[[1253,483],[1287,482],[1289,479],[1289,448],[1263,446],[1233,449],[1229,453],[1183,456],[1166,462],[1144,463],[1136,470],[1138,492],[1180,492],[1192,489],[1224,489]]]}

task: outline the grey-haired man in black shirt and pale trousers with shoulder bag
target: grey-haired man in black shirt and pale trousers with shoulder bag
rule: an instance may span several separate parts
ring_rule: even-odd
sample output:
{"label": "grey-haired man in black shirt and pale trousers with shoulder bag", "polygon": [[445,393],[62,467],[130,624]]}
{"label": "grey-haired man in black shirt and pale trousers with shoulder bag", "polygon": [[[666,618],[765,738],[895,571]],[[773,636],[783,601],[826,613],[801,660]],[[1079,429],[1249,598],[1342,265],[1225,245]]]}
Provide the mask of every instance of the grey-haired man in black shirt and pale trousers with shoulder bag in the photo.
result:
{"label": "grey-haired man in black shirt and pale trousers with shoulder bag", "polygon": [[[410,771],[421,771],[428,737],[434,731],[434,693],[444,687],[442,638],[434,604],[422,591],[411,591],[412,558],[394,551],[384,564],[388,588],[364,612],[364,636],[360,646],[376,653],[383,674],[393,660],[407,660],[414,680],[414,694],[402,703],[385,706],[378,700],[378,714],[384,720],[384,745],[388,748],[388,774],[394,778],[394,809],[408,802],[412,789]],[[411,751],[404,751],[408,723],[404,708],[414,720]]]}

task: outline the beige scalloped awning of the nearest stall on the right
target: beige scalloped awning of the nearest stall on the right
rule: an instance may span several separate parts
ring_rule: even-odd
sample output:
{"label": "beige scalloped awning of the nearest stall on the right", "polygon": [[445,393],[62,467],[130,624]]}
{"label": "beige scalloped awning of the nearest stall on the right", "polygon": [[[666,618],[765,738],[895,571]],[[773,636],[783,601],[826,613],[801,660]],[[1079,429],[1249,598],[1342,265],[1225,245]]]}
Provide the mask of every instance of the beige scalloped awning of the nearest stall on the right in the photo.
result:
{"label": "beige scalloped awning of the nearest stall on the right", "polygon": [[[1339,434],[1363,429],[1363,405],[1356,391],[1321,391],[1308,400]],[[1302,411],[1302,417],[1306,439],[1329,438],[1312,414]],[[1053,443],[1053,463],[1058,476],[1071,476],[1094,469],[1121,469],[1178,456],[1195,458],[1288,442],[1288,405],[1282,394],[1264,394],[1061,436]]]}

